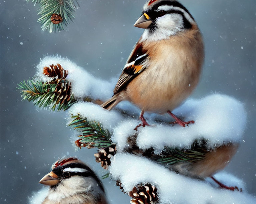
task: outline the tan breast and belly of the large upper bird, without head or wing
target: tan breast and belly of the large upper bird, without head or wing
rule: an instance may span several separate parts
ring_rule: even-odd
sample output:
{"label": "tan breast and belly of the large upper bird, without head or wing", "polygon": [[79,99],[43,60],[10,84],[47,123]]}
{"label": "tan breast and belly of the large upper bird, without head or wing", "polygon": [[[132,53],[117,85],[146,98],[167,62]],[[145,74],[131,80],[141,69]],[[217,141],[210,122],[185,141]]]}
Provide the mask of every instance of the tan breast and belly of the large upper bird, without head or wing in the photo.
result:
{"label": "tan breast and belly of the large upper bird, without head or wing", "polygon": [[144,41],[151,63],[120,95],[143,111],[166,113],[179,106],[196,87],[204,60],[200,32],[188,32],[186,38],[180,33],[160,42]]}

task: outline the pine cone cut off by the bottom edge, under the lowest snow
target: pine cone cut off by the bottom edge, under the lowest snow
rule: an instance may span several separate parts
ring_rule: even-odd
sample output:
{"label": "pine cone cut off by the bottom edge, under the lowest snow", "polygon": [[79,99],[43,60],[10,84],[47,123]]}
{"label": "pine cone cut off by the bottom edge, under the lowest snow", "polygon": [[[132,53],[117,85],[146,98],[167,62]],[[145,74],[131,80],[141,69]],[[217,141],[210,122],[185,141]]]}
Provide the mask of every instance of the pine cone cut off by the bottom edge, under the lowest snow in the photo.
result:
{"label": "pine cone cut off by the bottom edge, under the lowest snow", "polygon": [[[134,193],[136,187],[130,192],[132,204],[152,204],[157,201],[157,189],[151,184],[138,187],[139,190]],[[131,195],[132,194],[132,195]]]}

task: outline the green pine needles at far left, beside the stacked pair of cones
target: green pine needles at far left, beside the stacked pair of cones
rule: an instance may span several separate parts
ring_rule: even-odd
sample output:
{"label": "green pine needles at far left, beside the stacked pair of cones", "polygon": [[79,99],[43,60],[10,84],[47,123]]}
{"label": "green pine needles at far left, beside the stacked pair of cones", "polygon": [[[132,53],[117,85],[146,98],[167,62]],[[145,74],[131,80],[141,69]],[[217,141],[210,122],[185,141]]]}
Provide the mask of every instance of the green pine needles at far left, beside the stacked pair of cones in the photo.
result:
{"label": "green pine needles at far left, beside the stacked pair of cones", "polygon": [[23,100],[33,101],[34,105],[40,108],[46,108],[51,111],[65,111],[77,102],[74,96],[71,95],[69,101],[59,103],[58,94],[55,92],[58,84],[46,83],[38,80],[24,80],[18,84],[21,97]]}

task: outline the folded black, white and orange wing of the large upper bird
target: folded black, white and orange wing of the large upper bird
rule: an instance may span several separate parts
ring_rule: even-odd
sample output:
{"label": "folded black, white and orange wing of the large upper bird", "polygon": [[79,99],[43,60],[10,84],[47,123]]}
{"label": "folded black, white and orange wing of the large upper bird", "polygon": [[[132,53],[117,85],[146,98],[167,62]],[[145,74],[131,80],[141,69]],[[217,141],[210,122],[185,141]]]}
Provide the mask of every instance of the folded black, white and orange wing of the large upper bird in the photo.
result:
{"label": "folded black, white and orange wing of the large upper bird", "polygon": [[114,94],[122,91],[137,75],[148,66],[149,56],[147,50],[143,49],[142,43],[137,43],[131,52],[121,76],[114,88]]}

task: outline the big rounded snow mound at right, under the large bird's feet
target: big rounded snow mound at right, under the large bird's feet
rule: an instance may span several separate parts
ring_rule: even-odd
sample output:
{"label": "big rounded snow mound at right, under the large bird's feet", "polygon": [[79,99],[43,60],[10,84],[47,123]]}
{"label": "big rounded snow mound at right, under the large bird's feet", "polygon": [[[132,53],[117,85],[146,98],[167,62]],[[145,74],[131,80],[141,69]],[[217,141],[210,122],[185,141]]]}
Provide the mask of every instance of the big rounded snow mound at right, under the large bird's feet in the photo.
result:
{"label": "big rounded snow mound at right, under the large bird's feet", "polygon": [[[196,139],[206,139],[209,148],[223,143],[239,143],[246,126],[246,113],[238,100],[220,94],[202,99],[189,99],[173,111],[185,121],[194,120],[189,127],[154,123],[141,128],[137,145],[141,149],[164,146],[189,148]],[[156,136],[161,133],[161,136]]]}

